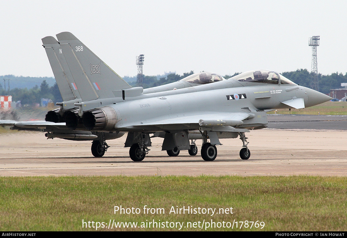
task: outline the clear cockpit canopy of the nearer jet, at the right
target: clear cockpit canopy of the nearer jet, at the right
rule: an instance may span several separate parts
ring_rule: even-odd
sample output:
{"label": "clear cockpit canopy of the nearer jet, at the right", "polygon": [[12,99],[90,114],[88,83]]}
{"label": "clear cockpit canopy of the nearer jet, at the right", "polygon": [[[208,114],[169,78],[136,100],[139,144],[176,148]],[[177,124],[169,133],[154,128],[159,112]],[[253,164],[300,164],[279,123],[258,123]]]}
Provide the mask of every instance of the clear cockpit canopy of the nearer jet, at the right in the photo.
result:
{"label": "clear cockpit canopy of the nearer jet, at the right", "polygon": [[270,70],[248,71],[233,77],[240,82],[265,83],[265,84],[295,84],[283,75]]}

